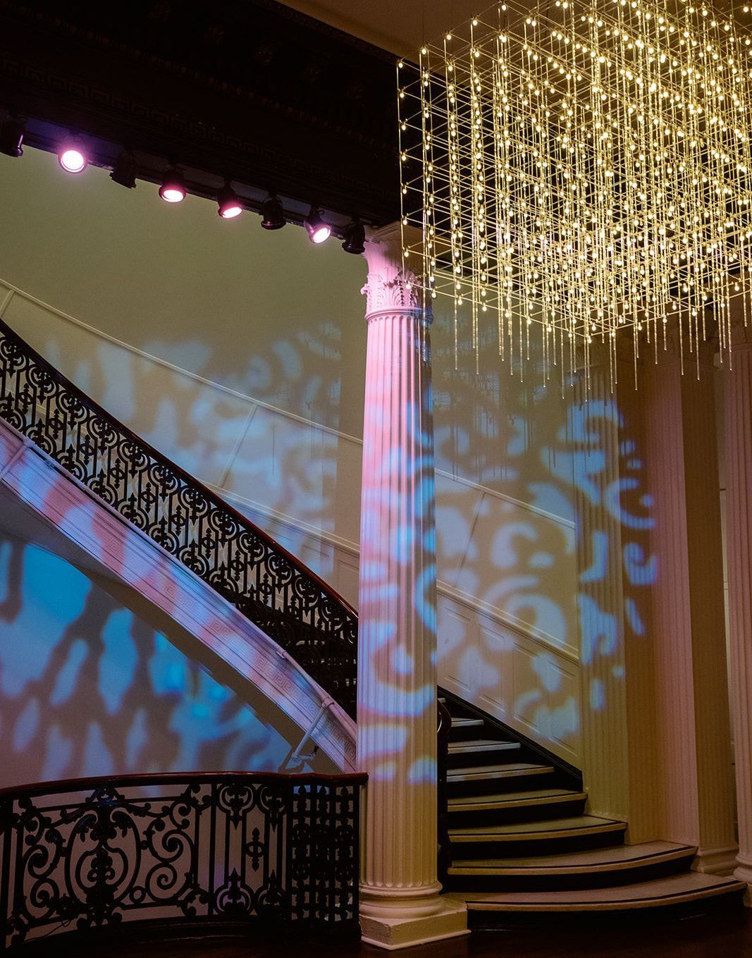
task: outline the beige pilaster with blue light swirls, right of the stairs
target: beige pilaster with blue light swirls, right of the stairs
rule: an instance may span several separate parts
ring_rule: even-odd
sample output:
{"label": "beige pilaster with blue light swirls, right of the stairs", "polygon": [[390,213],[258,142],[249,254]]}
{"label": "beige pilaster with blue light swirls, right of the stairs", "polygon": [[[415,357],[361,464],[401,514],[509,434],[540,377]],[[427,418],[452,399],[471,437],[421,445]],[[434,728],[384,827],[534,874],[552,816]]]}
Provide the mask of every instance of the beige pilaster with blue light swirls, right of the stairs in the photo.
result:
{"label": "beige pilaster with blue light swirls, right of the stairs", "polygon": [[[627,344],[628,347],[628,344]],[[581,742],[588,810],[628,822],[628,840],[656,837],[651,648],[654,560],[639,406],[627,348],[594,344],[589,390],[577,386],[575,458]]]}

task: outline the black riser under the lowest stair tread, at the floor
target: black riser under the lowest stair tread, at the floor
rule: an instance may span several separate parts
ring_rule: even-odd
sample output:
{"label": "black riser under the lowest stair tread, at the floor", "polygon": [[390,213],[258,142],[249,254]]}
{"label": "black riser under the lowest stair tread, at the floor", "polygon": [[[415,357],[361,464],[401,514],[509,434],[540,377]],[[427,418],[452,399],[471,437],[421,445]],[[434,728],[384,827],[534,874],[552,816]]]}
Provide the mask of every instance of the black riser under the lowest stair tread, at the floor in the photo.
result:
{"label": "black riser under the lowest stair tread, at the floor", "polygon": [[727,892],[698,901],[683,901],[653,908],[630,908],[614,911],[556,911],[504,912],[474,911],[467,908],[467,927],[470,930],[503,928],[536,928],[538,931],[562,929],[617,929],[647,927],[682,921],[699,915],[728,915],[742,906],[743,892]]}

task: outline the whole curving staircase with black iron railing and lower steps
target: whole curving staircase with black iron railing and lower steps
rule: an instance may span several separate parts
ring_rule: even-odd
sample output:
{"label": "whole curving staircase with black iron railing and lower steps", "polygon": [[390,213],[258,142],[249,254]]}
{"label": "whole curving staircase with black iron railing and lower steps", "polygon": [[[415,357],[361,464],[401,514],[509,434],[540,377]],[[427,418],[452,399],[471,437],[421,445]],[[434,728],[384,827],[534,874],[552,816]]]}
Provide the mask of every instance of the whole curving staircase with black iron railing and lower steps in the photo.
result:
{"label": "whole curving staircase with black iron railing and lower steps", "polygon": [[[208,648],[268,689],[307,737],[325,749],[329,741],[340,766],[354,762],[347,713],[354,715],[357,619],[348,604],[1,321],[0,421],[4,486],[97,561],[112,559],[113,574],[149,590],[149,601],[180,625],[195,627]],[[113,520],[107,549],[92,532],[98,511]],[[147,547],[162,565],[149,556],[144,578],[121,557]],[[200,619],[200,634],[187,616]],[[301,701],[307,708],[298,714]],[[626,845],[625,822],[586,813],[577,769],[467,702],[448,694],[444,701],[452,858],[444,879],[467,901],[470,927],[541,924],[552,915],[557,925],[585,915],[588,924],[619,915],[632,921],[741,904],[745,884],[690,871],[694,847]]]}

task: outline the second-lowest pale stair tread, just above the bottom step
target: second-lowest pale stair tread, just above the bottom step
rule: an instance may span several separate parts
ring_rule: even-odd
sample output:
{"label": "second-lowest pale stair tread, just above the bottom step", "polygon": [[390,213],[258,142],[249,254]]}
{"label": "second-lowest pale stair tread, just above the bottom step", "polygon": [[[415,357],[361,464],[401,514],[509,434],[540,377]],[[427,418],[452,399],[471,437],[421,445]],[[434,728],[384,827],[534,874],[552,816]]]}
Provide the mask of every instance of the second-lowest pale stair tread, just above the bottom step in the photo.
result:
{"label": "second-lowest pale stair tread, just above the bottom step", "polygon": [[693,845],[670,841],[640,842],[637,845],[613,845],[607,848],[560,855],[536,855],[520,858],[455,859],[449,875],[572,875],[578,872],[608,872],[655,865],[696,854]]}

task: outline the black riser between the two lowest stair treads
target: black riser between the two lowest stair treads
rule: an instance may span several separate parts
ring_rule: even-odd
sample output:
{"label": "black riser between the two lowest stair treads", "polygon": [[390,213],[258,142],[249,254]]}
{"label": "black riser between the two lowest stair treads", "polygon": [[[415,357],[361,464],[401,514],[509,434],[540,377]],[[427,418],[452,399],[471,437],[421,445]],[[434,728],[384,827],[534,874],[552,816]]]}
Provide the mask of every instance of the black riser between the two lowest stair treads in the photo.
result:
{"label": "black riser between the two lowest stair treads", "polygon": [[693,855],[689,855],[634,868],[584,871],[573,875],[449,875],[445,887],[450,892],[561,892],[581,888],[619,888],[686,872],[692,858]]}

